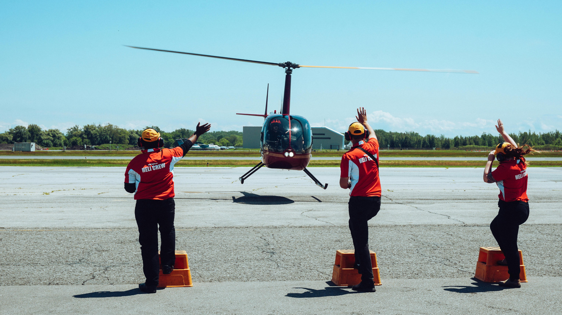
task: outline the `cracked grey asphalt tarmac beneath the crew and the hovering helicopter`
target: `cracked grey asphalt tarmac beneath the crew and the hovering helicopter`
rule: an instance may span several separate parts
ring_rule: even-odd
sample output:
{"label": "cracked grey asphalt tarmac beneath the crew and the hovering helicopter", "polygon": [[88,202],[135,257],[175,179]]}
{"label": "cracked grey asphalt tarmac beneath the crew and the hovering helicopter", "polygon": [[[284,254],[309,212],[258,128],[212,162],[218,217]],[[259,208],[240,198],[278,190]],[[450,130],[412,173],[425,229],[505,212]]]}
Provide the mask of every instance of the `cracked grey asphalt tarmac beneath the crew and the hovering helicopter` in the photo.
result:
{"label": "cracked grey asphalt tarmac beneath the crew and the hovering helicopter", "polygon": [[496,185],[482,168],[382,168],[370,221],[382,286],[330,287],[335,252],[351,249],[338,168],[303,172],[176,168],[177,249],[194,287],[140,295],[134,200],[125,168],[0,168],[0,313],[552,314],[562,306],[562,168],[529,168],[531,216],[519,233],[529,283],[472,279]]}

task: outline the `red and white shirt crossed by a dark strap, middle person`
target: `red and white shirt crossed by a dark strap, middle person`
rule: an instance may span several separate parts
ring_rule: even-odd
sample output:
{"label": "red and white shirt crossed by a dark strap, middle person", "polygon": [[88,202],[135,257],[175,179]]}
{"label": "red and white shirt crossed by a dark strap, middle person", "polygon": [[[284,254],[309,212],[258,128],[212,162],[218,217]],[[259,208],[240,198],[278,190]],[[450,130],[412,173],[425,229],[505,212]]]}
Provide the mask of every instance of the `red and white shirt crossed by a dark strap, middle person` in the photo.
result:
{"label": "red and white shirt crossed by a dark strap, middle person", "polygon": [[[378,163],[379,142],[376,138],[370,138],[367,142],[359,141],[358,146],[372,154]],[[353,146],[351,150],[343,154],[342,163],[339,165],[340,177],[350,178],[350,196],[380,197],[380,178],[377,163],[356,147]]]}

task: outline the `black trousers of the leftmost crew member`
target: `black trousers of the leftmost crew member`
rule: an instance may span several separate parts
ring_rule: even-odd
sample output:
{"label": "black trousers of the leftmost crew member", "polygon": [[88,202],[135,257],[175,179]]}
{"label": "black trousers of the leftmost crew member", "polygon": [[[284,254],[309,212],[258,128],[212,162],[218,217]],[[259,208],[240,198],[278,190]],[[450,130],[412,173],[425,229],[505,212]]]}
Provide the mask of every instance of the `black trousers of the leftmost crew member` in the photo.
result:
{"label": "black trousers of the leftmost crew member", "polygon": [[[175,202],[165,200],[139,199],[135,206],[135,219],[139,228],[140,254],[146,285],[158,285],[158,230],[162,246],[160,259],[163,265],[175,263]],[[158,227],[159,226],[159,227]]]}

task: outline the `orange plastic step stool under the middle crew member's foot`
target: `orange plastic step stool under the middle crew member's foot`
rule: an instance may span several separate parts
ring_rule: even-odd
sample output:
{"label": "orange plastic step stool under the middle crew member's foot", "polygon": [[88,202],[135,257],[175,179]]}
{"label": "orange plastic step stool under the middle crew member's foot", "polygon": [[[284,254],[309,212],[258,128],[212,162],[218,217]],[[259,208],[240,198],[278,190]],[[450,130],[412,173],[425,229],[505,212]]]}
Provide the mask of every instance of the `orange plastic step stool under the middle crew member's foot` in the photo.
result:
{"label": "orange plastic step stool under the middle crew member's foot", "polygon": [[[375,285],[382,285],[380,282],[379,267],[377,265],[377,254],[371,253],[371,266],[373,267],[373,280]],[[357,269],[353,269],[355,264],[355,250],[344,249],[336,250],[336,262],[332,272],[332,282],[337,286],[357,285],[361,282],[361,275]]]}

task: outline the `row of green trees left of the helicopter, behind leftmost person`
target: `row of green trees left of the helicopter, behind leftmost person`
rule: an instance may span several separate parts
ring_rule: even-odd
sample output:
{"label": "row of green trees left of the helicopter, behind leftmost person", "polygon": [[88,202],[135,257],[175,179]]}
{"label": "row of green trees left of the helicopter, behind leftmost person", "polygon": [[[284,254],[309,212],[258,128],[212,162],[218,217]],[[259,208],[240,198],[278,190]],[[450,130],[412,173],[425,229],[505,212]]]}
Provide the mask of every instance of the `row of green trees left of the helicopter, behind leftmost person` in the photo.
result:
{"label": "row of green trees left of the helicopter, behind leftmost person", "polygon": [[[160,132],[166,147],[174,146],[179,138],[188,138],[193,134],[190,129],[180,128],[173,132],[162,131],[158,126],[154,128]],[[0,143],[35,142],[43,147],[62,147],[75,145],[99,146],[107,143],[116,145],[135,146],[137,139],[144,129],[123,129],[116,125],[89,124],[80,127],[75,125],[66,129],[66,134],[59,129],[43,130],[36,124],[28,127],[16,126],[7,132],[0,133]],[[214,143],[220,146],[242,146],[242,132],[214,131],[203,134],[199,141],[205,144]]]}

